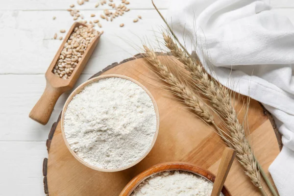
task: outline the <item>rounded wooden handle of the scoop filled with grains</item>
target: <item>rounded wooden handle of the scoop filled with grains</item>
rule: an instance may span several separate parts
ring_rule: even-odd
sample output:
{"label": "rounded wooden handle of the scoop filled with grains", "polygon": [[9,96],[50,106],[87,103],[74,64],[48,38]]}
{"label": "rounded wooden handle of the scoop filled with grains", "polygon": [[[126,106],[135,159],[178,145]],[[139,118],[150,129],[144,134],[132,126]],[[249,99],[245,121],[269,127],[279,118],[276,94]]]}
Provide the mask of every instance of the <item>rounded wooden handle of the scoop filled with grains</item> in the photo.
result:
{"label": "rounded wooden handle of the scoop filled with grains", "polygon": [[47,124],[52,114],[54,105],[62,93],[62,91],[53,88],[47,82],[45,91],[29,113],[29,118],[43,125]]}

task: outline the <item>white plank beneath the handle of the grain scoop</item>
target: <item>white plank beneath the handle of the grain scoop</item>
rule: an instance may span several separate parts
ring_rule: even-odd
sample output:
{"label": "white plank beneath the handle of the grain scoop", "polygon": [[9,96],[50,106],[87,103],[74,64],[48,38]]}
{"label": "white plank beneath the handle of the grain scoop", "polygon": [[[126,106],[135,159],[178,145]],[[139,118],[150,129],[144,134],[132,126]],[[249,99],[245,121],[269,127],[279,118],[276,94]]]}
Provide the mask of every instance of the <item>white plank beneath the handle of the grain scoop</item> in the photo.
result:
{"label": "white plank beneath the handle of the grain scoop", "polygon": [[[76,86],[90,76],[82,74]],[[58,99],[49,122],[44,126],[28,117],[45,89],[43,74],[0,75],[0,84],[0,141],[46,141],[70,92]]]}

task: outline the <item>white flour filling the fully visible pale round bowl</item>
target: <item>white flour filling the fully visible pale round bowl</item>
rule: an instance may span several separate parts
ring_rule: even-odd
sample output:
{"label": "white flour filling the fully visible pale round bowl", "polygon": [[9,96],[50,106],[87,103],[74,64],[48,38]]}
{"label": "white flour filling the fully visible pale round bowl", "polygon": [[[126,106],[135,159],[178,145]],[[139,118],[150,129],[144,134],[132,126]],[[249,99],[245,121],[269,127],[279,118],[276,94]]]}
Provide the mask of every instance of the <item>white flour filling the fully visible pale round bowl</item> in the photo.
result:
{"label": "white flour filling the fully visible pale round bowl", "polygon": [[68,104],[64,132],[71,149],[88,164],[122,168],[151,146],[156,132],[154,105],[146,91],[130,80],[100,79]]}

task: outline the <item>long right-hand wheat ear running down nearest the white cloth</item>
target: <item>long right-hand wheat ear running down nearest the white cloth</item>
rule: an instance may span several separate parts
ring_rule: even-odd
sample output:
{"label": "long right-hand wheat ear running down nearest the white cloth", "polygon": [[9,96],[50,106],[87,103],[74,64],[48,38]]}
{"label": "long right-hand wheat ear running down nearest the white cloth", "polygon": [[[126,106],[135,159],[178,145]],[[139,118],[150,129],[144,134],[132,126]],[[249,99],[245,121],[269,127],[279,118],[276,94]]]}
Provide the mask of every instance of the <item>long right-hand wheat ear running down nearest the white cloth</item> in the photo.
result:
{"label": "long right-hand wheat ear running down nearest the white cloth", "polygon": [[179,49],[169,35],[165,33],[163,35],[165,44],[172,55],[184,64],[185,69],[191,73],[203,95],[211,100],[215,109],[224,117],[228,134],[231,137],[231,144],[237,151],[239,162],[245,168],[245,173],[250,177],[252,183],[264,192],[260,181],[259,167],[246,139],[244,127],[239,123],[236,111],[231,104],[230,93],[220,83],[210,79],[204,68],[200,64],[196,64],[182,49]]}

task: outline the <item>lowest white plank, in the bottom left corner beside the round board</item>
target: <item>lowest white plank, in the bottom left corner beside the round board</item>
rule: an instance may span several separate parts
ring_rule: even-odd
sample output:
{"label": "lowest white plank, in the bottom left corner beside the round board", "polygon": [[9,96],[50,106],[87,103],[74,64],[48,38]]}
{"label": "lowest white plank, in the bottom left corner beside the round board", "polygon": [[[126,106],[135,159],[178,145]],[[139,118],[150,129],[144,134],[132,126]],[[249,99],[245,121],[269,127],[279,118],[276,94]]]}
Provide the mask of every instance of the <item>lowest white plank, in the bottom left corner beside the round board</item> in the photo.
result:
{"label": "lowest white plank, in the bottom left corner beside the round board", "polygon": [[[1,131],[3,131],[1,129]],[[44,196],[45,142],[0,142],[0,196]]]}

